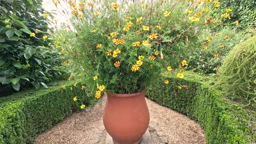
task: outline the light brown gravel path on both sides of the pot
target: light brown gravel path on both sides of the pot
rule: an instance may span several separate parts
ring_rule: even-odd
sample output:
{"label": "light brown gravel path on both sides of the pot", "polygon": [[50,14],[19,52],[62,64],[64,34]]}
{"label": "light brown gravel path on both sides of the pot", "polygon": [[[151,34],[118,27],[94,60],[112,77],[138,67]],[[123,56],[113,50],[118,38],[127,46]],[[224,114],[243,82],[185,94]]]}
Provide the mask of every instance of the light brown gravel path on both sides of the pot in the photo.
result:
{"label": "light brown gravel path on both sides of the pot", "polygon": [[[52,129],[38,136],[35,144],[90,144],[90,136],[95,128],[102,126],[102,115],[106,96],[103,96],[91,109],[74,113],[56,124]],[[168,137],[169,143],[206,143],[205,132],[199,124],[188,117],[160,106],[146,99],[150,122],[158,123]]]}

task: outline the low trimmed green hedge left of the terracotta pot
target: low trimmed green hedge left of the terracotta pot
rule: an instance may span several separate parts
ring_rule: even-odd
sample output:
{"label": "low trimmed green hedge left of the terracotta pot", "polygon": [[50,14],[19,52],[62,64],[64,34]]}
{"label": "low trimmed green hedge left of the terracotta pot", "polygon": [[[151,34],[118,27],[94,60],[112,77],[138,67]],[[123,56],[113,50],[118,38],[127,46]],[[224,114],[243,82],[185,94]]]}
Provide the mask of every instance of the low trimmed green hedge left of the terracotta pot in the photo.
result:
{"label": "low trimmed green hedge left of the terracotta pot", "polygon": [[[80,111],[80,105],[95,103],[94,98],[85,97],[80,83],[73,84],[59,81],[49,83],[48,89],[33,88],[0,98],[0,143],[32,143],[42,131]],[[79,101],[73,101],[75,96]]]}

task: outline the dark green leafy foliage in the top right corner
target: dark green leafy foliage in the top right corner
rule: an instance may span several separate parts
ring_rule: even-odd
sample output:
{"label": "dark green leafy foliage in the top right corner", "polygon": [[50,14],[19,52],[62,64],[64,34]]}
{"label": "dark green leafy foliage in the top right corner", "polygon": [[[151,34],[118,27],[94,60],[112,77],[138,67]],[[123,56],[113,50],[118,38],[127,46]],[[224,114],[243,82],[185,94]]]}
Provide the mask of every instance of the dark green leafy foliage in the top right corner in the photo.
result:
{"label": "dark green leafy foliage in the top right corner", "polygon": [[254,0],[220,0],[220,11],[216,11],[217,15],[226,13],[225,8],[232,9],[230,20],[224,20],[232,26],[236,20],[239,21],[237,26],[240,29],[254,27],[256,23],[256,1]]}

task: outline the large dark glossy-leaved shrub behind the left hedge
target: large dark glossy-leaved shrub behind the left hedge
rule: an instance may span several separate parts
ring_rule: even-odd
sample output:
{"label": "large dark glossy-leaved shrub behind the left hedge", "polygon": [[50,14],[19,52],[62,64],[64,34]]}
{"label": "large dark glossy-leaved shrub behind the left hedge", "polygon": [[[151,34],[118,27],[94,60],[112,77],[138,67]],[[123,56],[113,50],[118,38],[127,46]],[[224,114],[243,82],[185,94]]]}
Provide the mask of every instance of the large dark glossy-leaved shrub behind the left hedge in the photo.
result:
{"label": "large dark glossy-leaved shrub behind the left hedge", "polygon": [[[60,75],[60,55],[52,49],[50,31],[42,0],[0,3],[0,93],[19,91],[31,84],[47,87],[46,82]],[[38,31],[37,31],[38,30]],[[36,31],[36,32],[35,32]],[[36,33],[33,36],[33,33]],[[48,39],[43,39],[47,35]]]}

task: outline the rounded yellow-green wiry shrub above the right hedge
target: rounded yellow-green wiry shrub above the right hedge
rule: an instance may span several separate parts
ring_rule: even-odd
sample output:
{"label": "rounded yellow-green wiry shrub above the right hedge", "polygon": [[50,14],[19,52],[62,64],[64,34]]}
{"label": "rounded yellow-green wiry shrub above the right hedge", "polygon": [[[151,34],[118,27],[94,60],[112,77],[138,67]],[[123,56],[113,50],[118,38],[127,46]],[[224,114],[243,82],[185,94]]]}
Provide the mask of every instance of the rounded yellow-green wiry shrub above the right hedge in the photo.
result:
{"label": "rounded yellow-green wiry shrub above the right hedge", "polygon": [[256,36],[232,49],[218,71],[215,86],[231,100],[256,107]]}

